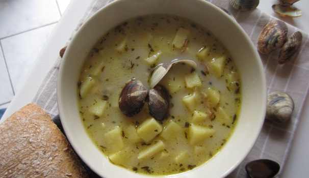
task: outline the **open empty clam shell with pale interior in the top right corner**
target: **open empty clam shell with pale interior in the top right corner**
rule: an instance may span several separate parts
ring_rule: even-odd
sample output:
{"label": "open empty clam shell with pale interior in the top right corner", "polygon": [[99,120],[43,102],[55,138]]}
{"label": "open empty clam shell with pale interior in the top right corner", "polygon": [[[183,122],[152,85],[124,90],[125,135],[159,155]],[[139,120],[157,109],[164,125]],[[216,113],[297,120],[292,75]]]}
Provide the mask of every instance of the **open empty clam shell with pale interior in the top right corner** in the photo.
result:
{"label": "open empty clam shell with pale interior in the top right corner", "polygon": [[280,4],[273,5],[272,10],[282,17],[299,17],[302,15],[301,10],[292,7],[299,0],[279,0]]}

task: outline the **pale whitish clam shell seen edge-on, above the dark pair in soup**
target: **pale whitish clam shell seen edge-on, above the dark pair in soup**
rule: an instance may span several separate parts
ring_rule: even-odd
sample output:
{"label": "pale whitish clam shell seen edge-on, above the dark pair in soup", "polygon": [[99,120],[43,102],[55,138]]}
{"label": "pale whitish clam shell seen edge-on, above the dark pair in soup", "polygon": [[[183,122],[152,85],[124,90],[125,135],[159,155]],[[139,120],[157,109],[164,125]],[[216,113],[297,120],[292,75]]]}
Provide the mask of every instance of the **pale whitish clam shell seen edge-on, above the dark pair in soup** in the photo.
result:
{"label": "pale whitish clam shell seen edge-on, above the dark pair in soup", "polygon": [[173,60],[170,63],[160,64],[155,69],[153,69],[150,75],[150,88],[155,87],[160,80],[167,74],[168,70],[177,63],[185,63],[190,64],[194,68],[196,68],[196,63],[191,60]]}

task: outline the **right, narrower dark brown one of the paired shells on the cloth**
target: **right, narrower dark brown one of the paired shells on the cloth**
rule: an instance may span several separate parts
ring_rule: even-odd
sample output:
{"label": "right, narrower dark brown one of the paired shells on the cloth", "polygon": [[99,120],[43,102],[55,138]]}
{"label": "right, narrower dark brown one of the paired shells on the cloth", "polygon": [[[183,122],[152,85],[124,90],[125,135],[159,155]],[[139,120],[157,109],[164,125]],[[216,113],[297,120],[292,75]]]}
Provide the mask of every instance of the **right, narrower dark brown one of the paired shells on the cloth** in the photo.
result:
{"label": "right, narrower dark brown one of the paired shells on the cloth", "polygon": [[296,55],[302,41],[302,34],[297,31],[293,33],[286,43],[281,47],[280,54],[278,57],[279,64],[285,64],[292,60],[292,58]]}

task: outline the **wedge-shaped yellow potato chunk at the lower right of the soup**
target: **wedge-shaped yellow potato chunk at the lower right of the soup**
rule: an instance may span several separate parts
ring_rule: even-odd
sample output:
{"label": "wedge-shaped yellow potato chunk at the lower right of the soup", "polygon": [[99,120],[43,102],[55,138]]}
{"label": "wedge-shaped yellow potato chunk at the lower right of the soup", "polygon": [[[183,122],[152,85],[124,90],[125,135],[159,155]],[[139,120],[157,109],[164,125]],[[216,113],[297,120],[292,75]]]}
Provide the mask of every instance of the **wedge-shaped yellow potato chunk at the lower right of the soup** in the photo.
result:
{"label": "wedge-shaped yellow potato chunk at the lower right of the soup", "polygon": [[214,135],[215,130],[191,124],[189,126],[188,132],[190,138],[189,143],[191,145],[195,145],[204,139],[210,138],[210,136]]}

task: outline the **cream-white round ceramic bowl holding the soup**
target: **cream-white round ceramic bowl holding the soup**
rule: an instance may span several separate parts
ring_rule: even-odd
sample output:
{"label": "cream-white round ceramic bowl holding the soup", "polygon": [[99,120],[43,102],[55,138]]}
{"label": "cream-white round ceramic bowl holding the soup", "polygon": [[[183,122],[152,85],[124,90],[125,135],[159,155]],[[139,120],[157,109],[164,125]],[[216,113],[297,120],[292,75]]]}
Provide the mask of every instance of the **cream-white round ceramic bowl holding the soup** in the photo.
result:
{"label": "cream-white round ceramic bowl holding the soup", "polygon": [[[210,161],[170,177],[224,177],[251,150],[264,122],[266,81],[263,66],[249,37],[222,10],[204,0],[117,0],[91,16],[72,38],[58,78],[58,107],[67,138],[84,162],[102,177],[145,177],[111,164],[88,137],[76,101],[76,86],[85,57],[107,31],[126,19],[144,14],[173,14],[209,29],[228,49],[242,80],[242,107],[233,135]],[[150,176],[152,177],[152,176]]]}

